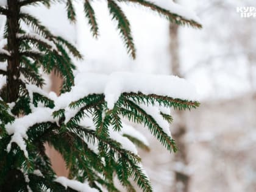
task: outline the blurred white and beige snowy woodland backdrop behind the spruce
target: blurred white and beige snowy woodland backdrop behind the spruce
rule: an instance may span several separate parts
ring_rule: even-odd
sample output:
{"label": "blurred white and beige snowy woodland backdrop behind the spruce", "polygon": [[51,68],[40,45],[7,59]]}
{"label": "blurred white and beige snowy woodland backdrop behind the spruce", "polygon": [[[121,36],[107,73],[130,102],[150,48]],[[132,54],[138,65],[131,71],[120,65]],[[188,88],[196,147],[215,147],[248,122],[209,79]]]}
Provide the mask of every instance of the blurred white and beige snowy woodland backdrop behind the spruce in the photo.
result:
{"label": "blurred white and beige snowy woodland backdrop behind the spruce", "polygon": [[[194,10],[203,23],[202,30],[179,28],[182,75],[196,87],[201,107],[185,113],[181,120],[188,127],[183,138],[188,166],[179,166],[173,160],[176,154],[169,155],[145,132],[152,148],[149,153],[140,152],[146,171],[155,191],[172,191],[176,169],[190,175],[188,191],[256,191],[256,19],[241,18],[236,12],[237,6],[256,7],[256,2],[183,0],[179,4]],[[84,61],[77,63],[78,71],[172,74],[168,21],[148,10],[123,6],[137,47],[137,59],[132,60],[104,2],[94,3],[100,32],[97,40],[82,5],[76,5],[76,25],[64,22],[63,8],[27,11],[34,12],[55,34],[77,44],[84,55]],[[179,122],[174,118],[170,129]]]}

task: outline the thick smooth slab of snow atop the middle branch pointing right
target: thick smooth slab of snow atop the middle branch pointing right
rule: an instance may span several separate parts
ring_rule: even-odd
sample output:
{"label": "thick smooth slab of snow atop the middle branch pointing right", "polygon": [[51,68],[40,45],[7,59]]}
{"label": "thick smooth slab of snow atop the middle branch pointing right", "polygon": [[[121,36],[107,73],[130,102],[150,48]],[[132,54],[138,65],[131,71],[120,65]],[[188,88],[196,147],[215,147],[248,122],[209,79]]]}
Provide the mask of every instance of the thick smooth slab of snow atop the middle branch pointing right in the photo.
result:
{"label": "thick smooth slab of snow atop the middle branch pointing right", "polygon": [[92,93],[104,93],[108,108],[112,109],[121,93],[144,93],[169,96],[171,98],[197,100],[197,93],[190,83],[177,76],[163,76],[139,73],[77,74],[75,87],[62,102],[80,99]]}

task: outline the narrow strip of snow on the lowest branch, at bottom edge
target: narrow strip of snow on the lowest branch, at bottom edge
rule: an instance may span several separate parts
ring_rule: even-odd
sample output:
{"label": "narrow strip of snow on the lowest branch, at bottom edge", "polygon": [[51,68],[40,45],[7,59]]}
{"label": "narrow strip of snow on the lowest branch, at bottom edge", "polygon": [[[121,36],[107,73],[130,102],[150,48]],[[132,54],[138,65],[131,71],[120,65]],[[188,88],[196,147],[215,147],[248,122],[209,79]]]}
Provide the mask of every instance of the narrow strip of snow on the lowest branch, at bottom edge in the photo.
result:
{"label": "narrow strip of snow on the lowest branch, at bottom edge", "polygon": [[81,183],[77,180],[70,180],[66,177],[57,177],[55,182],[63,185],[65,188],[72,188],[73,190],[80,192],[96,192],[98,190],[91,188],[87,183]]}

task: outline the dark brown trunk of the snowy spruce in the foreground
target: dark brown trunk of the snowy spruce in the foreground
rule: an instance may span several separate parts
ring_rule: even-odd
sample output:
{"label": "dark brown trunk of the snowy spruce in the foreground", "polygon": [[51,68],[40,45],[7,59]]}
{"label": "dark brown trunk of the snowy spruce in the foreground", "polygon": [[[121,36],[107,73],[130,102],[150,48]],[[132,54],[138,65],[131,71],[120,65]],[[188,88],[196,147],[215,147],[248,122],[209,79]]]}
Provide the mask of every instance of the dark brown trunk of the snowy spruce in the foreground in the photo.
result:
{"label": "dark brown trunk of the snowy spruce in the foreground", "polygon": [[18,0],[8,0],[9,16],[7,16],[8,51],[10,58],[7,66],[7,102],[15,102],[20,90],[20,54],[19,41],[16,34],[19,32],[20,5]]}

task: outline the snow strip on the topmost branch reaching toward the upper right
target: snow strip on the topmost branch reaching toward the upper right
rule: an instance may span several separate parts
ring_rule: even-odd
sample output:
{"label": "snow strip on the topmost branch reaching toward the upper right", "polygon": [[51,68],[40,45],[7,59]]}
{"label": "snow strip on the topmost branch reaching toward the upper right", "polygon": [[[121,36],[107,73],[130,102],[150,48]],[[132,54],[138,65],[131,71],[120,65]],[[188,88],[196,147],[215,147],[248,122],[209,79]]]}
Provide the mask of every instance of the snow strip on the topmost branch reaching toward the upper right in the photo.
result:
{"label": "snow strip on the topmost branch reaching toward the upper right", "polygon": [[162,7],[163,9],[169,10],[171,13],[175,13],[177,15],[182,16],[183,18],[186,18],[187,20],[194,20],[197,23],[201,23],[201,20],[191,10],[186,9],[182,5],[176,4],[171,0],[157,0],[157,1],[150,1],[154,3],[155,5],[158,5],[159,7]]}

